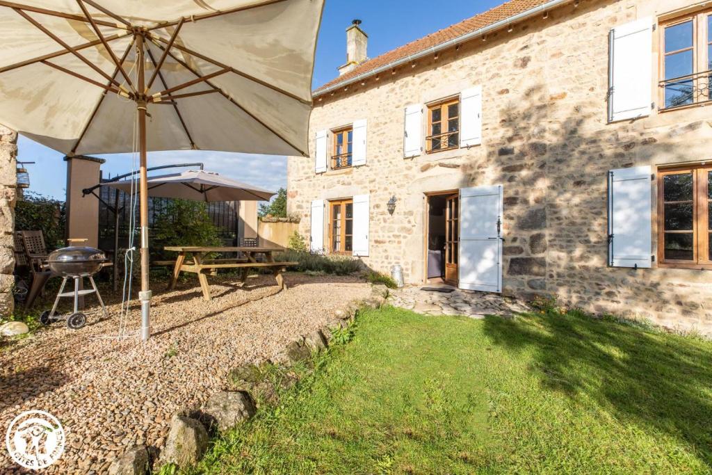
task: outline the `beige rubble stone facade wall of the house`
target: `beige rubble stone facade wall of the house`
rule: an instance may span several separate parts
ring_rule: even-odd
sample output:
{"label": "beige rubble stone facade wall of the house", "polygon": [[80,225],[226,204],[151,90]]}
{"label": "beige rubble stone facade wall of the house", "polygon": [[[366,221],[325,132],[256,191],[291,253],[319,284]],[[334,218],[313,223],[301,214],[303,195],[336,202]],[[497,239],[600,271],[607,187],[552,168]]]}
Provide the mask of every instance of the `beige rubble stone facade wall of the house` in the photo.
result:
{"label": "beige rubble stone facade wall of the house", "polygon": [[[712,332],[712,273],[607,266],[608,170],[707,160],[712,146],[711,108],[607,123],[608,33],[694,3],[580,1],[316,98],[312,135],[368,120],[367,165],[317,175],[313,160],[290,158],[288,212],[303,218],[300,232],[308,236],[312,199],[369,193],[364,262],[386,272],[399,263],[409,283],[422,283],[424,194],[503,184],[504,293],[555,295],[597,313]],[[656,33],[656,50],[658,43]],[[657,64],[654,52],[651,68]],[[404,160],[404,107],[478,84],[483,144]],[[398,203],[391,216],[386,203],[393,194]]]}

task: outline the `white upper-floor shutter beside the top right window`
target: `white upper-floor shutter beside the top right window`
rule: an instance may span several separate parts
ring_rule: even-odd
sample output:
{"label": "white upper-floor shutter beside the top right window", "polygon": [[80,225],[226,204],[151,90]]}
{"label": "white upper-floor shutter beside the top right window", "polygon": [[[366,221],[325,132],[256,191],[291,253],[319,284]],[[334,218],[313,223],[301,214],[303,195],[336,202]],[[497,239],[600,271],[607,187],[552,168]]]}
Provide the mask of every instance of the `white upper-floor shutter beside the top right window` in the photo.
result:
{"label": "white upper-floor shutter beside the top right window", "polygon": [[608,120],[650,115],[652,108],[653,20],[613,28],[609,35]]}

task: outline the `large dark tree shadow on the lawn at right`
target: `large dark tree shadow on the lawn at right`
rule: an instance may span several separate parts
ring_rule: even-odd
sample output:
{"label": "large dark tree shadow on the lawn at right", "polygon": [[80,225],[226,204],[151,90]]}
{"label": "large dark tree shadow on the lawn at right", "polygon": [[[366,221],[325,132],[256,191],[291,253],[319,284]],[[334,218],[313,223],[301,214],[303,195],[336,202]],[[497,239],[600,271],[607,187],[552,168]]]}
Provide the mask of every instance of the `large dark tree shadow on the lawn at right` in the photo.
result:
{"label": "large dark tree shadow on the lawn at right", "polygon": [[547,390],[655,427],[712,466],[712,343],[571,314],[488,317],[484,330],[496,345],[532,352],[529,369]]}

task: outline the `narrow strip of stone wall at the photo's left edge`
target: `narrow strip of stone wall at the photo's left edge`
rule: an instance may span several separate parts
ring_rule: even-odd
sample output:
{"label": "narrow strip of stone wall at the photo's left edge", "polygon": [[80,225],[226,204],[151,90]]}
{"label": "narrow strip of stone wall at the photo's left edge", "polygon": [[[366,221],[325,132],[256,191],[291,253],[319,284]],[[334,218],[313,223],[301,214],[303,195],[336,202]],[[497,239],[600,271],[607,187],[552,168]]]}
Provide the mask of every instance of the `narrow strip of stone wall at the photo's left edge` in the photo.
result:
{"label": "narrow strip of stone wall at the photo's left edge", "polygon": [[0,318],[14,310],[17,132],[0,125]]}

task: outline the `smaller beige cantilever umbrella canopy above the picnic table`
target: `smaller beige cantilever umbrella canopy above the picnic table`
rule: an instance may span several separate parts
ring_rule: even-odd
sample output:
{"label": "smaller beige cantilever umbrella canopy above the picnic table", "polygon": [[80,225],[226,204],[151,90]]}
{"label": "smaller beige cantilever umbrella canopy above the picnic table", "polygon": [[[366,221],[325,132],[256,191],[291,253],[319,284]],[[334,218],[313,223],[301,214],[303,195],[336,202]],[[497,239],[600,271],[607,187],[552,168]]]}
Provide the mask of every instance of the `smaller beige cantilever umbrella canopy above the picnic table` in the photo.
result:
{"label": "smaller beige cantilever umbrella canopy above the picnic table", "polygon": [[[125,193],[135,190],[130,180],[106,185]],[[148,179],[148,195],[158,198],[192,199],[200,202],[268,201],[274,194],[266,189],[203,170],[164,174]]]}

